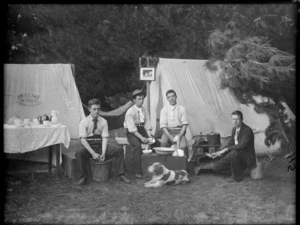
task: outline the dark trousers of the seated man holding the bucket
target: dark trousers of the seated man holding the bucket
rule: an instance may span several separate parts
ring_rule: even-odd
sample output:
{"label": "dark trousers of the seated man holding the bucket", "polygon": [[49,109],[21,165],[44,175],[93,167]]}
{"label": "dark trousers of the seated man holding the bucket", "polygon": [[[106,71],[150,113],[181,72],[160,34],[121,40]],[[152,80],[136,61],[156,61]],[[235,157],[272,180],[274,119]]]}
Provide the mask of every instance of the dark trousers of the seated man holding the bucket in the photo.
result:
{"label": "dark trousers of the seated man holding the bucket", "polygon": [[[90,142],[89,144],[91,148],[101,154],[102,153],[102,143],[101,141],[94,141]],[[89,159],[92,158],[91,153],[82,146],[82,148],[76,151],[76,163],[79,170],[79,178],[84,176],[86,178],[90,178],[90,162]],[[105,153],[105,160],[115,158],[117,160],[117,170],[118,174],[124,174],[125,172],[125,162],[124,162],[124,151],[123,148],[119,145],[107,143],[106,153]]]}

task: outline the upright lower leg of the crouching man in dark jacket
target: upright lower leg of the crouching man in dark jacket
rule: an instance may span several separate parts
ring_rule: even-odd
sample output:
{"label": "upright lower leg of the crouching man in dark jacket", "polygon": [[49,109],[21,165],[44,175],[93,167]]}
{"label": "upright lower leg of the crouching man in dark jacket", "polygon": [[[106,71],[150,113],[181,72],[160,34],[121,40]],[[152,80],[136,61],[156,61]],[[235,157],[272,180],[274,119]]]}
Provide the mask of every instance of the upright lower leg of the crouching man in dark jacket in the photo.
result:
{"label": "upright lower leg of the crouching man in dark jacket", "polygon": [[231,176],[234,180],[242,180],[246,169],[246,154],[242,151],[231,150]]}

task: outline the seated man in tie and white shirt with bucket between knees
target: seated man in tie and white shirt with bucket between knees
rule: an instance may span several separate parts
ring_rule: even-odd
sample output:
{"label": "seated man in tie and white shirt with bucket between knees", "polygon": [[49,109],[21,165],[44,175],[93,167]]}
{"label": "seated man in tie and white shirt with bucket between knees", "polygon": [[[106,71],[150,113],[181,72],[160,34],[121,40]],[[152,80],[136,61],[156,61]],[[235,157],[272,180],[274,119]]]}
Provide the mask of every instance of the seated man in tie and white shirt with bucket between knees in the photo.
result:
{"label": "seated man in tie and white shirt with bucket between knees", "polygon": [[79,168],[78,185],[83,185],[87,182],[88,166],[90,158],[111,159],[117,160],[118,174],[120,180],[125,183],[130,183],[130,180],[124,176],[125,162],[124,151],[121,146],[107,143],[108,125],[107,121],[99,116],[101,104],[99,99],[91,99],[88,102],[90,115],[82,119],[79,123],[79,138],[82,148],[76,151],[76,161]]}

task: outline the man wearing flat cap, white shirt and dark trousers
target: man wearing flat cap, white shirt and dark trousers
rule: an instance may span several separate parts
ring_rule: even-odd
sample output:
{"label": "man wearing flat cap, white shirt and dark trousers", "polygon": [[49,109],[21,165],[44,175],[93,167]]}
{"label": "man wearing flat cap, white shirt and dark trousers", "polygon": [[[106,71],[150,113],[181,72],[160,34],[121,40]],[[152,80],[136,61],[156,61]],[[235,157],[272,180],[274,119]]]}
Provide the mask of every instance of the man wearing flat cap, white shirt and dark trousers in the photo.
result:
{"label": "man wearing flat cap, white shirt and dark trousers", "polygon": [[[145,96],[146,93],[142,90],[135,90],[132,93],[134,105],[127,110],[124,121],[127,140],[133,146],[133,169],[138,179],[142,178],[142,144],[149,144],[148,138],[152,137],[149,113],[143,107]],[[160,146],[159,141],[156,140],[153,146]]]}

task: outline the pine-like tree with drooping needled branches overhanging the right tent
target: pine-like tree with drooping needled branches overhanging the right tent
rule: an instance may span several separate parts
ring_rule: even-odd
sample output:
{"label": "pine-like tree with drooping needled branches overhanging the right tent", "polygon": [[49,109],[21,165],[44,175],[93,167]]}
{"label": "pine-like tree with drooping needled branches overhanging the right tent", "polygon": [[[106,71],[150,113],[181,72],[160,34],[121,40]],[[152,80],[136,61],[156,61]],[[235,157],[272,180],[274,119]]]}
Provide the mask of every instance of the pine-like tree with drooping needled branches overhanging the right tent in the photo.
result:
{"label": "pine-like tree with drooping needled branches overhanging the right tent", "polygon": [[295,57],[272,47],[268,37],[250,36],[240,27],[232,19],[209,39],[213,58],[222,61],[221,86],[240,103],[253,104],[256,112],[268,115],[267,146],[279,141],[284,149],[295,151],[295,121],[284,112],[284,101],[295,94]]}

